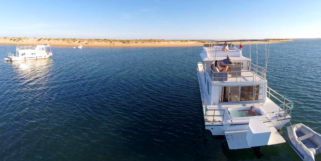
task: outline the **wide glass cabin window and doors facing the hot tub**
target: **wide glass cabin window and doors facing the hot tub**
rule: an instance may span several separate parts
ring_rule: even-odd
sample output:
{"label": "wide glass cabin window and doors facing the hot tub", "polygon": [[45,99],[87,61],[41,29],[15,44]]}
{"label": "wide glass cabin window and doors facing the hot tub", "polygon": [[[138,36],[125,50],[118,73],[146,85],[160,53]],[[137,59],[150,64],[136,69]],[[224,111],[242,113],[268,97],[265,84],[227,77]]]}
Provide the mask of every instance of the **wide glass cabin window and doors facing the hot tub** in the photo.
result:
{"label": "wide glass cabin window and doors facing the hot tub", "polygon": [[220,89],[219,102],[239,102],[239,101],[253,101],[258,100],[259,85],[255,86],[223,86]]}

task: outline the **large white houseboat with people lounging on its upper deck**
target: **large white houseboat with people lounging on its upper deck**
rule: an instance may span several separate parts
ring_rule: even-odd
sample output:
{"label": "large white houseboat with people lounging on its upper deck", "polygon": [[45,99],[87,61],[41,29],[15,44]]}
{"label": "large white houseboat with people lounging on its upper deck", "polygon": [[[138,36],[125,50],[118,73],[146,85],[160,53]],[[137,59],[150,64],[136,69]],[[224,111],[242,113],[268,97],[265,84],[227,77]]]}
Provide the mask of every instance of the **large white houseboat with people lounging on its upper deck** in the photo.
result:
{"label": "large white houseboat with people lounging on its upper deck", "polygon": [[[232,43],[227,44],[229,50],[223,51],[224,42],[231,41],[265,42],[265,67],[257,65],[257,44],[254,64],[251,49],[249,58]],[[204,44],[200,53],[202,62],[197,64],[197,75],[205,129],[214,136],[225,136],[230,149],[285,142],[278,131],[290,121],[293,102],[268,87],[266,43],[269,45],[265,39],[213,41]],[[233,61],[226,64],[227,71],[214,72],[213,62],[226,59],[227,55]]]}

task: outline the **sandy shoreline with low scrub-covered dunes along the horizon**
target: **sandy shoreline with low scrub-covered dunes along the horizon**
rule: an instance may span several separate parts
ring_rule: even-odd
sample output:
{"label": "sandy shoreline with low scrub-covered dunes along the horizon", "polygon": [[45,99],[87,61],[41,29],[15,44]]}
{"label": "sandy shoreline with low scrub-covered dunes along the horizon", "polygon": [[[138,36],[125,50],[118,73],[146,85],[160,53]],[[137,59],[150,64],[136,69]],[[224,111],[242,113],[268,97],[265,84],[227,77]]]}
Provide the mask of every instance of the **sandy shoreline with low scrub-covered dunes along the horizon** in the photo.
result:
{"label": "sandy shoreline with low scrub-covered dunes along the horizon", "polygon": [[[160,40],[160,39],[143,39],[143,40],[116,40],[116,39],[67,39],[67,38],[0,38],[0,45],[17,45],[19,43],[29,42],[33,45],[49,44],[57,47],[76,47],[82,44],[83,47],[196,47],[208,44],[209,40]],[[271,39],[270,43],[282,43],[293,41],[292,39]],[[233,41],[234,45],[240,42]],[[265,42],[257,42],[264,44]],[[248,42],[242,44],[248,45]],[[255,42],[251,42],[255,44]]]}

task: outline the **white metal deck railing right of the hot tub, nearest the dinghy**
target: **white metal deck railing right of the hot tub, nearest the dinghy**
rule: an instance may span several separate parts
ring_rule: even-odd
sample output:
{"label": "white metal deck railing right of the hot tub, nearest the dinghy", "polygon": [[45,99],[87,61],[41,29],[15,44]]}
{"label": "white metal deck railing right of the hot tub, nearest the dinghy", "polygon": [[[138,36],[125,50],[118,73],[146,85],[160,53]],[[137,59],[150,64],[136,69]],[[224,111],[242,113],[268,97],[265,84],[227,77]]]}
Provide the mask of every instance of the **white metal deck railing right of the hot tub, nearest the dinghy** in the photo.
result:
{"label": "white metal deck railing right of the hot tub, nearest the dinghy", "polygon": [[[287,116],[288,114],[291,114],[291,110],[293,109],[293,102],[290,99],[286,98],[285,96],[281,95],[280,93],[276,92],[275,90],[271,89],[270,87],[267,87],[266,93],[268,94],[268,98],[270,98],[270,96],[272,96],[276,100],[278,100],[279,102],[282,103],[279,105],[280,108],[279,108],[279,113],[277,115],[277,119],[283,118],[283,117]],[[284,112],[284,115],[280,115],[280,112],[281,113]]]}

